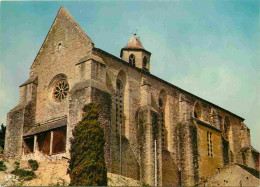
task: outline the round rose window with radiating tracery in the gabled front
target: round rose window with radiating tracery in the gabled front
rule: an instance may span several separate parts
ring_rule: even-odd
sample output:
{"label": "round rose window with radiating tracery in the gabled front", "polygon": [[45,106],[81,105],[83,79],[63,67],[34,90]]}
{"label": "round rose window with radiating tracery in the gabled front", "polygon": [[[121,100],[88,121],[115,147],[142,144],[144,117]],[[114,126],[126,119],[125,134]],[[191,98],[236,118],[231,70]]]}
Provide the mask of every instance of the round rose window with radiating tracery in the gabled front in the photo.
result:
{"label": "round rose window with radiating tracery in the gabled front", "polygon": [[59,81],[53,89],[53,98],[57,102],[61,102],[68,95],[69,84],[66,80]]}

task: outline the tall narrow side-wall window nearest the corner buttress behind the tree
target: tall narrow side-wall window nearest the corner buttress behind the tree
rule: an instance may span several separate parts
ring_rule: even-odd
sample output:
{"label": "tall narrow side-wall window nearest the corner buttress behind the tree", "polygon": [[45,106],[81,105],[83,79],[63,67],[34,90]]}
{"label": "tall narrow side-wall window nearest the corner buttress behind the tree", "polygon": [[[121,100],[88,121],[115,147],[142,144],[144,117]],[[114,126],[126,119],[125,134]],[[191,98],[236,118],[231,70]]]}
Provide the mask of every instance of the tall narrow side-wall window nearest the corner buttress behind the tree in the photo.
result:
{"label": "tall narrow side-wall window nearest the corner buttress behind the tree", "polygon": [[124,90],[121,80],[116,81],[116,133],[124,134],[123,111],[124,111]]}

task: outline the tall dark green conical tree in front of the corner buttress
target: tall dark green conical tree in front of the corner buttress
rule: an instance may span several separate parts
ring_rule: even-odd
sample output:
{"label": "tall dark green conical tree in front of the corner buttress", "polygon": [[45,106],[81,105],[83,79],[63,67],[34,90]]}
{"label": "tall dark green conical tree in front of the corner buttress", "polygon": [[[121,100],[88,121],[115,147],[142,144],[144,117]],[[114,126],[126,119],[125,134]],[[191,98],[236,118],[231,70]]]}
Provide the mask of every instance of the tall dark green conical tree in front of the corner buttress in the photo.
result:
{"label": "tall dark green conical tree in front of the corner buttress", "polygon": [[104,130],[98,121],[99,108],[91,103],[83,108],[83,119],[73,130],[68,173],[72,186],[106,186]]}

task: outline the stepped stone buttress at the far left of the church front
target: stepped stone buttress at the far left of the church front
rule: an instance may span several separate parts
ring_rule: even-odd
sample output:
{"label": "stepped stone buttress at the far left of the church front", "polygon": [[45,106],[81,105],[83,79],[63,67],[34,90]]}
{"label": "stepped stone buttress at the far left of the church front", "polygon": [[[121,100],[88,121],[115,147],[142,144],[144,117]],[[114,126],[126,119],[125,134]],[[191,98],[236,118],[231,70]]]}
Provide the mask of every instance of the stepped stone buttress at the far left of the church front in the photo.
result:
{"label": "stepped stone buttress at the far left of the church front", "polygon": [[37,79],[20,87],[19,104],[7,114],[4,153],[9,157],[22,155],[22,136],[35,124]]}

